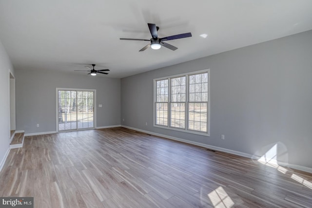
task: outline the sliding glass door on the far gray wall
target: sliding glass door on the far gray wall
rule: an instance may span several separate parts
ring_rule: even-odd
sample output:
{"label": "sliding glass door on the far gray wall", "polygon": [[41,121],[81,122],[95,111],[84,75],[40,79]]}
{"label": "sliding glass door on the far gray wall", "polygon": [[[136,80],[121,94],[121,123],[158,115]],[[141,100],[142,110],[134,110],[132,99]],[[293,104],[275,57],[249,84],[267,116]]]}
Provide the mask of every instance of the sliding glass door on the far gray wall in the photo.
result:
{"label": "sliding glass door on the far gray wall", "polygon": [[57,89],[58,132],[95,128],[95,90]]}

